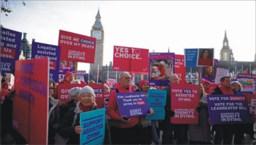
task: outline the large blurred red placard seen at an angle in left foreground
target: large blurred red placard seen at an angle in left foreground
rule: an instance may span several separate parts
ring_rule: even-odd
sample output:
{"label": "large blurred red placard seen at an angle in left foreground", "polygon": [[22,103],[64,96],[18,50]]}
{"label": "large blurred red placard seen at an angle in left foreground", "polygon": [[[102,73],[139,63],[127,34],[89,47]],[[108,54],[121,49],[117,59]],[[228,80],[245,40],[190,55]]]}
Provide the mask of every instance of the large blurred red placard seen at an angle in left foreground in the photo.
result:
{"label": "large blurred red placard seen at an angle in left foreground", "polygon": [[13,128],[28,144],[47,144],[49,58],[17,60]]}

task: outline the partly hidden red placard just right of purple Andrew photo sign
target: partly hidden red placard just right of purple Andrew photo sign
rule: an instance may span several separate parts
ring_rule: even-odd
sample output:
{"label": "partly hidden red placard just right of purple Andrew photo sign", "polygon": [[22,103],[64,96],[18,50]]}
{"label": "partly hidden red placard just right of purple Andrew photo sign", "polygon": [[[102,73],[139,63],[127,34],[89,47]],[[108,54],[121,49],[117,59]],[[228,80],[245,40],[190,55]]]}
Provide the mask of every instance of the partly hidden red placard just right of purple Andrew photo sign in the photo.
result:
{"label": "partly hidden red placard just right of purple Andrew photo sign", "polygon": [[175,74],[179,76],[180,84],[185,84],[186,82],[186,67],[184,66],[184,55],[175,54],[174,62]]}

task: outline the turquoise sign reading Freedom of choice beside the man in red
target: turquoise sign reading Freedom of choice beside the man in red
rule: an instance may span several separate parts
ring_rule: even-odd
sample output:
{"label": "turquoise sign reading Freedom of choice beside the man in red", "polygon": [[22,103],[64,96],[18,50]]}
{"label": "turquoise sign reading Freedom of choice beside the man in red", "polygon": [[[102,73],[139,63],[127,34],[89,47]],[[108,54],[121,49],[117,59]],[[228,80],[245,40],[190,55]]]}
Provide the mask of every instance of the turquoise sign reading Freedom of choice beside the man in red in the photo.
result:
{"label": "turquoise sign reading Freedom of choice beside the man in red", "polygon": [[164,106],[166,104],[166,90],[148,90],[148,105],[154,114],[146,116],[146,120],[164,120]]}

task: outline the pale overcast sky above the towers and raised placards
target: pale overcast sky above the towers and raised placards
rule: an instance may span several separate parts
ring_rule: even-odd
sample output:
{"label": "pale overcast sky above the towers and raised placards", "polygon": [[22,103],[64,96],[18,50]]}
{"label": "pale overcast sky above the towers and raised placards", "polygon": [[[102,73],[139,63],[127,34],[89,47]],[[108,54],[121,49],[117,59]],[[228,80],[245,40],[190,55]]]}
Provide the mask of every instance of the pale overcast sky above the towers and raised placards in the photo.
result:
{"label": "pale overcast sky above the towers and raised placards", "polygon": [[177,54],[214,48],[220,59],[225,30],[235,60],[254,60],[255,1],[9,1],[13,12],[1,13],[1,24],[26,32],[29,43],[50,45],[58,45],[60,29],[90,36],[99,8],[104,65],[113,60],[114,45]]}

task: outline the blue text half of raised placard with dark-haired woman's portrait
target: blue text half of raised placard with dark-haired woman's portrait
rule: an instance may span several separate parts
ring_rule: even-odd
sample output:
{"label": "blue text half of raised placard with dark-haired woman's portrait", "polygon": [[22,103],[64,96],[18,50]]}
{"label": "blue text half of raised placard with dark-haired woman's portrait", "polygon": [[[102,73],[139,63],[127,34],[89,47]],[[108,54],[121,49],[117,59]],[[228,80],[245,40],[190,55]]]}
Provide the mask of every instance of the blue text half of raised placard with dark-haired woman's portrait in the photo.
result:
{"label": "blue text half of raised placard with dark-haired woman's portrait", "polygon": [[186,67],[196,67],[198,60],[198,49],[184,49]]}

